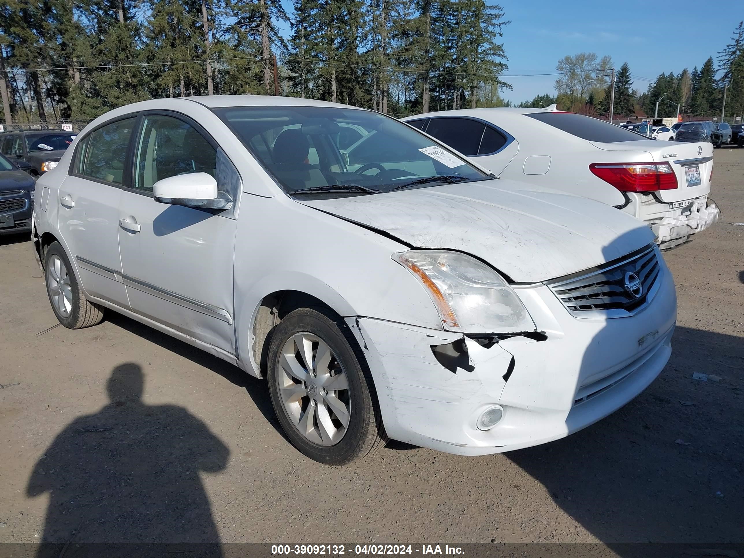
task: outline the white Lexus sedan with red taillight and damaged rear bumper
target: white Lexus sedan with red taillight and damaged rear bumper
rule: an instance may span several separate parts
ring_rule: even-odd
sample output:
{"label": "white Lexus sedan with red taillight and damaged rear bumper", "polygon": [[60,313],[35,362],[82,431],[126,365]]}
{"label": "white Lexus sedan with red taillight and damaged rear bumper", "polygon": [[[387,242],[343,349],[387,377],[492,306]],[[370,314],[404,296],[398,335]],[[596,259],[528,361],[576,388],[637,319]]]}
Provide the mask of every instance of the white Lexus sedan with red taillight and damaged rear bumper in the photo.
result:
{"label": "white Lexus sedan with red taillight and damaged rear bumper", "polygon": [[597,118],[545,109],[465,109],[403,120],[498,176],[619,208],[647,223],[661,248],[687,242],[719,216],[708,197],[710,145],[653,141]]}

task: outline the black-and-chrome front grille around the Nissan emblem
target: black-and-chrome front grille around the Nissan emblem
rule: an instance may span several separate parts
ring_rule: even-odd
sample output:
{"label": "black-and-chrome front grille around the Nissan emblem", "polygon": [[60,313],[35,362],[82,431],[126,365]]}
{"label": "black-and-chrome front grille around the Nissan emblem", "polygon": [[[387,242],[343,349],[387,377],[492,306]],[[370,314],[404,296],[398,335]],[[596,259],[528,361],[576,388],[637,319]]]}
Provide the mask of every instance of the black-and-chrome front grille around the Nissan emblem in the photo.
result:
{"label": "black-and-chrome front grille around the Nissan emblem", "polygon": [[[567,275],[546,283],[571,312],[625,310],[633,312],[653,296],[660,271],[653,245],[604,266]],[[638,278],[641,292],[627,283]],[[624,315],[625,312],[622,312]]]}

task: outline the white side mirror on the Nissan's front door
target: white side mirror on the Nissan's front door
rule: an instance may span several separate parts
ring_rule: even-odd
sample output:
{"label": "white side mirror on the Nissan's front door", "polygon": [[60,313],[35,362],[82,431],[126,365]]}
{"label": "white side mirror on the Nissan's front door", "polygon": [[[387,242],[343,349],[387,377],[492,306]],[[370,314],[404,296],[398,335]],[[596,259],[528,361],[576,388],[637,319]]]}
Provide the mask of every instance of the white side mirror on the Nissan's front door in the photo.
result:
{"label": "white side mirror on the Nissan's front door", "polygon": [[155,202],[185,205],[190,208],[228,209],[232,199],[220,195],[217,180],[207,173],[170,176],[153,185]]}

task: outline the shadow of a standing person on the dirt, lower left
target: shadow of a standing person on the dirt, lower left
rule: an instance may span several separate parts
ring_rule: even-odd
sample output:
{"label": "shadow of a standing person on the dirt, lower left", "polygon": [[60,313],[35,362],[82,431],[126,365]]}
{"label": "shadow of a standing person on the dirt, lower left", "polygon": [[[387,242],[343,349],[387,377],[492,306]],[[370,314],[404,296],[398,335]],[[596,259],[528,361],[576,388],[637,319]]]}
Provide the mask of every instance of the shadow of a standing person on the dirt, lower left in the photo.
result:
{"label": "shadow of a standing person on the dirt, lower left", "polygon": [[185,408],[143,403],[144,380],[139,365],[115,367],[109,403],[34,466],[26,495],[49,498],[37,557],[222,556],[200,475],[224,470],[228,447]]}

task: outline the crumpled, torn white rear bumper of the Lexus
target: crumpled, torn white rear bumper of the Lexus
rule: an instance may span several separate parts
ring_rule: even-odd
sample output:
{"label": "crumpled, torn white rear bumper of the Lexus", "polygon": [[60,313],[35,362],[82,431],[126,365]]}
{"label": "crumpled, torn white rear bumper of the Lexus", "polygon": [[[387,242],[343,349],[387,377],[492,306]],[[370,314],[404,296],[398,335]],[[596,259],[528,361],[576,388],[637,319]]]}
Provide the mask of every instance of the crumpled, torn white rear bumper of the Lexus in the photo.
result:
{"label": "crumpled, torn white rear bumper of the Lexus", "polygon": [[656,235],[656,243],[662,250],[692,240],[693,234],[713,225],[721,214],[716,202],[708,196],[673,204],[662,204],[654,200],[653,205],[658,205],[661,213],[642,214],[641,219],[649,223]]}

